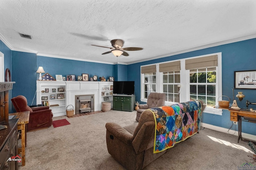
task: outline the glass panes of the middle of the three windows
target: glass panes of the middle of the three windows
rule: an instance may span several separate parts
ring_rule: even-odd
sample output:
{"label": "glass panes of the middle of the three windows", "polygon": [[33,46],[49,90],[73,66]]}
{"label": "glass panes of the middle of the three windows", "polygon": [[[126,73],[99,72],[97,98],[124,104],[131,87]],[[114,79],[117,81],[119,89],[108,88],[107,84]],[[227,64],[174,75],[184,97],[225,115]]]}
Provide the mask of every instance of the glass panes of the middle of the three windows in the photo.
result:
{"label": "glass panes of the middle of the three windows", "polygon": [[178,84],[180,83],[180,71],[163,72],[163,93],[165,101],[180,102],[180,92]]}

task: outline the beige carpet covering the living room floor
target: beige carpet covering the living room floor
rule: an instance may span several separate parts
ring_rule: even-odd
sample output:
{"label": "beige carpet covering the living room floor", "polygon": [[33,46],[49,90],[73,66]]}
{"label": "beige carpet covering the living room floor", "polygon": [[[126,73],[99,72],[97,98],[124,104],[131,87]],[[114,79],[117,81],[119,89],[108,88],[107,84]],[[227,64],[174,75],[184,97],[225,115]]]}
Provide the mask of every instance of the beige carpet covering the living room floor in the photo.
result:
{"label": "beige carpet covering the living room floor", "polygon": [[[123,170],[106,147],[107,122],[130,125],[136,111],[108,111],[68,119],[70,125],[27,133],[26,165],[20,170]],[[172,148],[145,170],[216,170],[234,169],[253,162],[246,142],[237,136],[201,129],[199,134]],[[153,151],[152,151],[153,152]]]}

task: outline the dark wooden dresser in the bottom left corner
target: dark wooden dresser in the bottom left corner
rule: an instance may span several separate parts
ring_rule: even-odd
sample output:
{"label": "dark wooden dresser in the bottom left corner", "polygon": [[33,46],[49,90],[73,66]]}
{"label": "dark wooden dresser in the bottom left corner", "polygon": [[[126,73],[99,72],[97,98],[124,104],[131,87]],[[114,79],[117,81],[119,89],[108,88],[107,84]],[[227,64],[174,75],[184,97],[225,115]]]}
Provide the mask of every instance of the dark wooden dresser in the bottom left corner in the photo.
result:
{"label": "dark wooden dresser in the bottom left corner", "polygon": [[0,170],[18,170],[17,161],[7,161],[18,155],[18,119],[10,119],[2,125],[7,128],[0,130]]}

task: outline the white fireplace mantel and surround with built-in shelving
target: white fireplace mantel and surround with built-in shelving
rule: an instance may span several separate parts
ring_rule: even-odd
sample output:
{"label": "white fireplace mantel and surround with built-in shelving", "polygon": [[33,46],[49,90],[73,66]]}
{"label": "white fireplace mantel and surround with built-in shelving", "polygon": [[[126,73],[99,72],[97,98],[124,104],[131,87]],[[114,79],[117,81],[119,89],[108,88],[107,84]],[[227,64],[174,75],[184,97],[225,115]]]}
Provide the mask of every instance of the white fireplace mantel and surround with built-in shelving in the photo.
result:
{"label": "white fireplace mantel and surround with built-in shelving", "polygon": [[[102,89],[113,85],[112,81],[36,81],[37,83],[37,97],[36,103],[41,104],[42,96],[49,96],[48,100],[50,103],[57,100],[50,100],[50,94],[52,88],[58,89],[58,87],[64,87],[65,89],[65,106],[62,108],[50,107],[54,117],[66,115],[66,107],[68,105],[74,106],[75,109],[75,96],[76,95],[94,95],[94,111],[101,111],[102,103]],[[42,93],[42,90],[48,88],[49,93]],[[57,91],[56,91],[57,92]],[[55,103],[53,103],[55,104]],[[56,111],[54,111],[56,109]],[[55,112],[55,113],[54,113]],[[75,111],[74,111],[75,113]]]}

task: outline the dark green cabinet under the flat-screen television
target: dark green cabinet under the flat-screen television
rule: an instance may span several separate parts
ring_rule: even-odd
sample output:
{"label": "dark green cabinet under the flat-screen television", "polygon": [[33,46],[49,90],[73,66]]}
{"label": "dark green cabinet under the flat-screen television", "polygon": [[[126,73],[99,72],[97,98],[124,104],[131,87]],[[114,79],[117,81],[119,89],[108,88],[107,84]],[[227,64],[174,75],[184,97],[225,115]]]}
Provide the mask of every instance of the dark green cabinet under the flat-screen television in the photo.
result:
{"label": "dark green cabinet under the flat-screen television", "polygon": [[134,111],[135,95],[113,95],[113,110]]}

